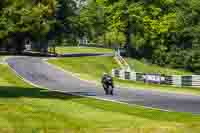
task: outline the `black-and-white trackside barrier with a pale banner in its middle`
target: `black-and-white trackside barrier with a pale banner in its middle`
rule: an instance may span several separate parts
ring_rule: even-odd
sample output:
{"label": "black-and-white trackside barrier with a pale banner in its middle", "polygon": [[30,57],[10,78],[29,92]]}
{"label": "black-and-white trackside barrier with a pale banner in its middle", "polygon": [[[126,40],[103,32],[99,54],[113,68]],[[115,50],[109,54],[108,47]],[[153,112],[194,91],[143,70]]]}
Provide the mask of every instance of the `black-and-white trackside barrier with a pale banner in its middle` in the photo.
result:
{"label": "black-and-white trackside barrier with a pale banner in its middle", "polygon": [[200,87],[200,75],[190,75],[190,76],[181,76],[181,75],[160,75],[160,74],[146,74],[146,73],[137,73],[132,71],[127,71],[123,69],[113,69],[112,76],[123,79],[123,80],[132,80],[132,81],[143,81],[157,84],[167,84],[173,85],[176,87]]}

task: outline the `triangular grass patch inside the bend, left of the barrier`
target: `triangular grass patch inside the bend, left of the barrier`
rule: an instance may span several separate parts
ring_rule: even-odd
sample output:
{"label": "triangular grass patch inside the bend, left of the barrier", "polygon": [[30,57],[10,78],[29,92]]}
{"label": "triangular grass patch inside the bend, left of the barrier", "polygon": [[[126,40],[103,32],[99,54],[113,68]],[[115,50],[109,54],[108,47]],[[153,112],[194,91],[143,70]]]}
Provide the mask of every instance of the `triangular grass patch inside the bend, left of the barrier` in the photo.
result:
{"label": "triangular grass patch inside the bend, left of the barrier", "polygon": [[113,57],[72,57],[49,62],[89,80],[100,80],[103,72],[110,73],[119,67]]}

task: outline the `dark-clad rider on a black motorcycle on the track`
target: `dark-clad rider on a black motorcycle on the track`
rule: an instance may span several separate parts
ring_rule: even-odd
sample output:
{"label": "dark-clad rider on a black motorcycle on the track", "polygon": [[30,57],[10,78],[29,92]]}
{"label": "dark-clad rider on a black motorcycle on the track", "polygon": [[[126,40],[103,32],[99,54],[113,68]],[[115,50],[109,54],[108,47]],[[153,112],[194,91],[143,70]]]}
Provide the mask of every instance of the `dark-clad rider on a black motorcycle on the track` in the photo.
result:
{"label": "dark-clad rider on a black motorcycle on the track", "polygon": [[103,74],[103,77],[101,79],[101,83],[103,85],[105,94],[106,95],[113,95],[113,88],[114,88],[113,78],[109,74],[107,74],[107,73]]}

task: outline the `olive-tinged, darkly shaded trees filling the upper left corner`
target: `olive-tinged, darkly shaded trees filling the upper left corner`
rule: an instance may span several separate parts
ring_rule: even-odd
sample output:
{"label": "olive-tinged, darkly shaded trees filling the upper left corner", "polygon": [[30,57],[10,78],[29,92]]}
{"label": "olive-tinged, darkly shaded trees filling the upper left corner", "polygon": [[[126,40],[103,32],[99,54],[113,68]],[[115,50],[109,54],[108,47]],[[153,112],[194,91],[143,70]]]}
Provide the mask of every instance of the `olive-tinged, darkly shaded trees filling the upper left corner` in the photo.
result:
{"label": "olive-tinged, darkly shaded trees filling the upper left corner", "polygon": [[72,34],[76,10],[73,0],[1,0],[0,47],[21,52],[26,38],[44,45]]}

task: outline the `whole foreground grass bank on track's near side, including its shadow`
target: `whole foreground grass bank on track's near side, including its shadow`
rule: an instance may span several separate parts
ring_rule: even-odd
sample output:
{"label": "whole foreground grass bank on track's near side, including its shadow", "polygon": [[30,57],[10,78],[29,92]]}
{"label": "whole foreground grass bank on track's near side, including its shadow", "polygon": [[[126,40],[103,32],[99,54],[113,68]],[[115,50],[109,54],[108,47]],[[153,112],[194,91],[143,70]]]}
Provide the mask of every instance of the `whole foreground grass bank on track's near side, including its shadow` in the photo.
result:
{"label": "whole foreground grass bank on track's near side, including its shadow", "polygon": [[1,133],[199,133],[200,116],[162,112],[30,86],[0,65]]}

